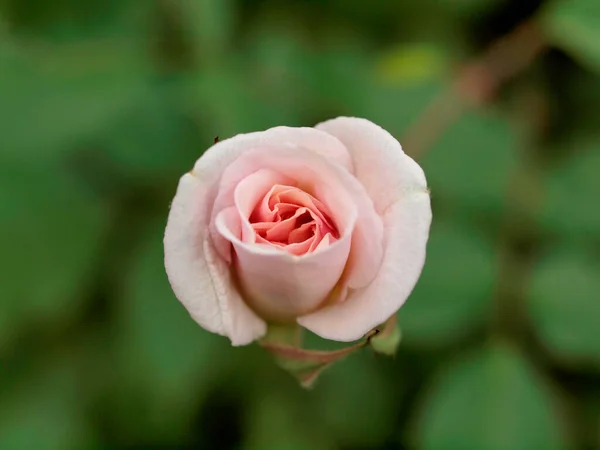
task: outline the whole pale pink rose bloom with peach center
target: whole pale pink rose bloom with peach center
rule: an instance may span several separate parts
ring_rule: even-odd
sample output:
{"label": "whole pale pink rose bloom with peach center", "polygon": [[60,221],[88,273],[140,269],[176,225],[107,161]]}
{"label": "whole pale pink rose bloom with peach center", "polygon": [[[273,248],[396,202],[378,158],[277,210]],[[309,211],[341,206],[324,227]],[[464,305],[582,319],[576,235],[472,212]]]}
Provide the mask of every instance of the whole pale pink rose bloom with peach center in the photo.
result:
{"label": "whole pale pink rose bloom with peach center", "polygon": [[294,322],[353,341],[409,296],[430,223],[423,170],[387,131],[277,127],[215,144],[183,175],[165,266],[194,320],[233,345]]}

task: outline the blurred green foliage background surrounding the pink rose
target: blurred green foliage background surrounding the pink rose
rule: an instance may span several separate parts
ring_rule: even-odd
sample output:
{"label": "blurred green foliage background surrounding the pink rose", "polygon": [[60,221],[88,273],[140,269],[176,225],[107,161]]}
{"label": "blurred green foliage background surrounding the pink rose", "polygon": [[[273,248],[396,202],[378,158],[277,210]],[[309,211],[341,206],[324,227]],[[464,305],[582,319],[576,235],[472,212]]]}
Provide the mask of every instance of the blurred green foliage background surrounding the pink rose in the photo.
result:
{"label": "blurred green foliage background surrounding the pink rose", "polygon": [[[0,0],[0,449],[600,448],[599,111],[598,0]],[[215,136],[338,115],[434,222],[397,357],[305,392],[189,318],[162,233]]]}

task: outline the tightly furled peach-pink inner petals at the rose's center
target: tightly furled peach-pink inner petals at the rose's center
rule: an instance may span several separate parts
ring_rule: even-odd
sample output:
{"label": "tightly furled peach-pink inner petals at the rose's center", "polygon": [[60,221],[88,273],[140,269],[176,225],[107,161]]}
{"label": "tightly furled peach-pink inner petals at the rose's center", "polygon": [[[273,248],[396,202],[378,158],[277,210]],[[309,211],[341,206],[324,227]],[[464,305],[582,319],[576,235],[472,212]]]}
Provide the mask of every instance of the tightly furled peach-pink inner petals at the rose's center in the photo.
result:
{"label": "tightly furled peach-pink inner petals at the rose's center", "polygon": [[254,235],[245,242],[272,245],[294,255],[324,248],[339,233],[323,203],[300,188],[274,184],[250,213]]}

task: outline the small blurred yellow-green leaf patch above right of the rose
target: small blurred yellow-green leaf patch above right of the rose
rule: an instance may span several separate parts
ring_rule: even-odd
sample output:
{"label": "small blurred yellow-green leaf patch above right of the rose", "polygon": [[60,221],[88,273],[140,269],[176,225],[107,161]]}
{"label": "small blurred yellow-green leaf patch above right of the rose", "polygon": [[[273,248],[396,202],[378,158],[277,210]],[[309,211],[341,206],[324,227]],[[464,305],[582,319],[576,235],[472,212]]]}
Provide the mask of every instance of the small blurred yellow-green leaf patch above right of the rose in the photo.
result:
{"label": "small blurred yellow-green leaf patch above right of the rose", "polygon": [[410,85],[436,79],[444,74],[446,57],[442,49],[428,44],[400,44],[380,56],[376,76],[386,85]]}

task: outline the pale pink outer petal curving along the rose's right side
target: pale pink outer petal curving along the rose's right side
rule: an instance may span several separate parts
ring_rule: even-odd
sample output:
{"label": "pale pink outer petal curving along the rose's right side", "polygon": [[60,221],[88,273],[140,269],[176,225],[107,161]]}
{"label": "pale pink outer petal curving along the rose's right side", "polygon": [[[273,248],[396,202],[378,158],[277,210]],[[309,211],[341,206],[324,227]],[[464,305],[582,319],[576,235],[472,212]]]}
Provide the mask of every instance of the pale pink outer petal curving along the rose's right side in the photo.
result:
{"label": "pale pink outer petal curving along the rose's right side", "polygon": [[375,280],[335,304],[298,319],[327,339],[352,341],[392,316],[410,295],[425,262],[431,205],[422,169],[379,126],[338,118],[317,126],[348,148],[355,175],[383,217],[385,254]]}

